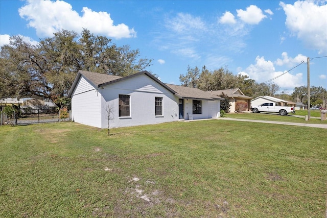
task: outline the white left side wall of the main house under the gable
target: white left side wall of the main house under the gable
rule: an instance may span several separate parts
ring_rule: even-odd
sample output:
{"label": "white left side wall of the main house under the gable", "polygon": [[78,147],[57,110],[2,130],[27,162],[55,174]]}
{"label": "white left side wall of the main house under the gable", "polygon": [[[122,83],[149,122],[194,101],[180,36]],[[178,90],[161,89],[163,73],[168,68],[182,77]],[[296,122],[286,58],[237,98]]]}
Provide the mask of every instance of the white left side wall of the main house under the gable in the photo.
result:
{"label": "white left side wall of the main house under the gable", "polygon": [[101,128],[101,94],[83,76],[72,94],[72,120]]}

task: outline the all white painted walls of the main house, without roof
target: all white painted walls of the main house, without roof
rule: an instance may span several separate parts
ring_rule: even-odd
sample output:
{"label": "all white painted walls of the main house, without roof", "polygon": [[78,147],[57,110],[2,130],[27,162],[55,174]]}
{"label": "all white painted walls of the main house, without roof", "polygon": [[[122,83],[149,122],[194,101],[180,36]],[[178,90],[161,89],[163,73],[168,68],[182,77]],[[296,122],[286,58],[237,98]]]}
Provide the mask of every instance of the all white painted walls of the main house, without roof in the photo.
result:
{"label": "all white painted walls of the main house, without roof", "polygon": [[[119,117],[119,95],[130,95],[130,116]],[[162,115],[155,116],[155,97],[162,98]],[[202,113],[193,114],[193,119],[220,116],[220,101],[202,100]],[[108,128],[107,108],[112,107],[110,128],[159,124],[179,119],[178,97],[152,80],[147,75],[109,84],[92,86],[81,76],[72,94],[72,119],[81,124]],[[184,118],[192,114],[192,100],[184,100]]]}

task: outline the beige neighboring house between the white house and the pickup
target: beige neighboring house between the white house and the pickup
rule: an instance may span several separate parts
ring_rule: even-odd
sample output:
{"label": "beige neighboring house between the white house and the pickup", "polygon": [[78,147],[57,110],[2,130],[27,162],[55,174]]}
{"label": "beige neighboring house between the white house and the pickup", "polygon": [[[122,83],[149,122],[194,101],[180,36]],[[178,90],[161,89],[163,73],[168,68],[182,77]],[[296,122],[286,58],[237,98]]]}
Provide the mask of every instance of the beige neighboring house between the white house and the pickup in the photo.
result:
{"label": "beige neighboring house between the white house and the pickup", "polygon": [[[230,113],[235,113],[236,111],[236,103],[237,102],[245,102],[247,103],[246,111],[249,111],[251,108],[251,100],[253,99],[250,96],[246,96],[239,88],[232,88],[232,89],[223,89],[223,90],[216,90],[216,91],[209,91],[211,94],[220,96],[222,93],[226,94],[229,98]],[[238,111],[241,112],[241,111]]]}

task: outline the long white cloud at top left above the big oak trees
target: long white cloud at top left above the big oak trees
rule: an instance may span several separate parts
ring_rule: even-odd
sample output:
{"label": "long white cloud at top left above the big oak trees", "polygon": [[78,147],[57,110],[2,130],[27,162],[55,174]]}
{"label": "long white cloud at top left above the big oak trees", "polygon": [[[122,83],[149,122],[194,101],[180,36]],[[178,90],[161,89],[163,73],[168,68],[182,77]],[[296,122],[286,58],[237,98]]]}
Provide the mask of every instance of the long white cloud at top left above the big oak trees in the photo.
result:
{"label": "long white cloud at top left above the big oak trees", "polygon": [[39,37],[51,37],[61,29],[81,32],[86,28],[91,33],[103,34],[116,39],[136,37],[134,29],[124,23],[114,25],[110,14],[95,12],[89,8],[82,9],[82,16],[64,1],[27,1],[19,8],[20,17],[29,21],[28,26],[35,28]]}

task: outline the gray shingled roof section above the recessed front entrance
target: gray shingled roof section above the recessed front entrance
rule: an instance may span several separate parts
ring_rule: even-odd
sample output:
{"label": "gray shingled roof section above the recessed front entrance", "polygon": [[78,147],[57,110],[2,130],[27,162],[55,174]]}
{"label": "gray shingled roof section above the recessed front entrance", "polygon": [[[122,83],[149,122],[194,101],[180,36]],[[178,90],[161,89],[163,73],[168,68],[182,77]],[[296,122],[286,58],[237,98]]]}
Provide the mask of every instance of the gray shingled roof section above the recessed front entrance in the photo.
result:
{"label": "gray shingled roof section above the recessed front entrance", "polygon": [[166,84],[168,87],[173,89],[178,93],[180,98],[182,99],[204,99],[204,100],[215,100],[220,99],[223,100],[220,97],[217,97],[215,95],[212,95],[206,91],[202,91],[197,88],[191,88],[186,86],[178,86],[178,85],[172,85],[172,84]]}

